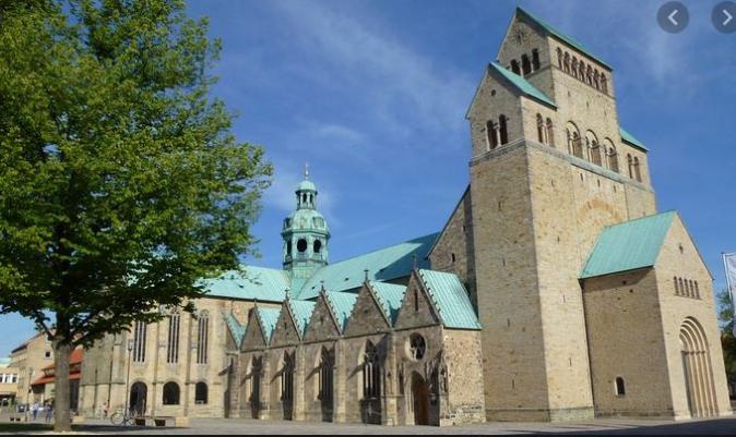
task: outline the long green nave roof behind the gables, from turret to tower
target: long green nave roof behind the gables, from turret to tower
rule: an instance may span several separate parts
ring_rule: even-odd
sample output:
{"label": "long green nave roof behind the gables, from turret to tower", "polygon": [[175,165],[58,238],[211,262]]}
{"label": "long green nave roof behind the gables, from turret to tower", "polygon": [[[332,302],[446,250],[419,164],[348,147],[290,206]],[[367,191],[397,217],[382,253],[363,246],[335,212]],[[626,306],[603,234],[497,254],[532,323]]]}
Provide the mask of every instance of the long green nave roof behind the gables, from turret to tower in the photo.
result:
{"label": "long green nave roof behind the gables, from turret to tower", "polygon": [[408,276],[414,268],[415,256],[418,267],[429,267],[427,255],[438,236],[439,233],[419,236],[321,267],[307,280],[298,299],[317,298],[322,281],[324,288],[332,291],[358,289],[365,281],[365,270],[368,270],[368,279],[373,281],[389,281]]}

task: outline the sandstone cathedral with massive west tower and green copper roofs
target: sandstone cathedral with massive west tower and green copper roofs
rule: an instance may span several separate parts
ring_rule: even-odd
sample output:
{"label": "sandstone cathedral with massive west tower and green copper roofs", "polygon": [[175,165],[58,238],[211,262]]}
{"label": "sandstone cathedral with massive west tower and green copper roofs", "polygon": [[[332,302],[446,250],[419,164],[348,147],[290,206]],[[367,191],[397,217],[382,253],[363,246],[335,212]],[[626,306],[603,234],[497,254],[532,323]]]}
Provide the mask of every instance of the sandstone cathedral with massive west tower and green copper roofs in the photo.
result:
{"label": "sandstone cathedral with massive west tower and green copper roofs", "polygon": [[381,425],[731,413],[712,277],[612,66],[517,9],[466,119],[470,184],[438,233],[329,262],[305,174],[283,268],[85,352],[80,414]]}

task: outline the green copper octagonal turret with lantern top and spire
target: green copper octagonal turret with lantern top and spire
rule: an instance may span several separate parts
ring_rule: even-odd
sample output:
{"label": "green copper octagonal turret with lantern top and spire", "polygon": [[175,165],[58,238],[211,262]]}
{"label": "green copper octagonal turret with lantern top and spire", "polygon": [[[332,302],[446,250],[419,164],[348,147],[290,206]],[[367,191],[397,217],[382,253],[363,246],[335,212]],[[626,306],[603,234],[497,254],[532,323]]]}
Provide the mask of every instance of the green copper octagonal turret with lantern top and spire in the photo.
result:
{"label": "green copper octagonal turret with lantern top and spire", "polygon": [[317,210],[317,185],[305,179],[296,189],[296,210],[284,219],[281,235],[284,239],[284,269],[292,274],[293,282],[301,282],[317,269],[328,264],[330,229]]}

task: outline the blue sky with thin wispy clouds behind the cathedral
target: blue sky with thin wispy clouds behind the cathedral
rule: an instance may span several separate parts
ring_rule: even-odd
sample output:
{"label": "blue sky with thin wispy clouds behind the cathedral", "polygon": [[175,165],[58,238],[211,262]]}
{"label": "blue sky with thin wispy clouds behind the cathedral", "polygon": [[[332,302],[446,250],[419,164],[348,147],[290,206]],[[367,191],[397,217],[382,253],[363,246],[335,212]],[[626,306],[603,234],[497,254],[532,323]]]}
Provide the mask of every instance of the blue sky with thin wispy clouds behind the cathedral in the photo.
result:
{"label": "blue sky with thin wispy clouds behind the cathedral", "polygon": [[[281,220],[304,162],[339,260],[439,231],[468,182],[464,120],[475,86],[522,5],[614,66],[621,124],[650,148],[660,210],[678,209],[724,288],[736,252],[736,35],[717,1],[685,1],[688,28],[660,29],[664,1],[190,1],[224,50],[214,93],[235,134],[275,166],[254,234],[281,264]],[[593,7],[593,4],[595,4]],[[0,316],[0,356],[33,332]]]}

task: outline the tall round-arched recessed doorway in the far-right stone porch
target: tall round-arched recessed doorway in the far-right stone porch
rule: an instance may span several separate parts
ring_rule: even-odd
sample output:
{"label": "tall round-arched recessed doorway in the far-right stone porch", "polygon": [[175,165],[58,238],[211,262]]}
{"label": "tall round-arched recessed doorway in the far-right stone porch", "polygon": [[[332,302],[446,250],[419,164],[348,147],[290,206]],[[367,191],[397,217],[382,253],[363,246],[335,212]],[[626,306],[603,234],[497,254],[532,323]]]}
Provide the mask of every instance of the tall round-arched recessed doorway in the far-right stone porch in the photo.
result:
{"label": "tall round-arched recessed doorway in the far-right stone porch", "polygon": [[680,326],[679,337],[690,416],[715,416],[717,403],[705,332],[698,320],[688,317]]}

